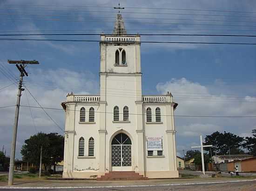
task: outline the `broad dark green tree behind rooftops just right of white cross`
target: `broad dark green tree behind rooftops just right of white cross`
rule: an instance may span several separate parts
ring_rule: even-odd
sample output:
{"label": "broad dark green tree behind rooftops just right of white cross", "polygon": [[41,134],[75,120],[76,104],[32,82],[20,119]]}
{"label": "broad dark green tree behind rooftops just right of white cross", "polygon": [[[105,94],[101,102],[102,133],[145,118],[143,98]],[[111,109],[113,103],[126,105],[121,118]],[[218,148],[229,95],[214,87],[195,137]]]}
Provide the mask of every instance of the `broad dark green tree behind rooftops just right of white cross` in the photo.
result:
{"label": "broad dark green tree behind rooftops just right of white cross", "polygon": [[237,136],[236,134],[220,133],[218,131],[205,137],[206,145],[213,145],[212,148],[206,147],[205,150],[209,151],[212,149],[216,154],[243,154],[244,151],[241,149],[243,146],[243,137]]}

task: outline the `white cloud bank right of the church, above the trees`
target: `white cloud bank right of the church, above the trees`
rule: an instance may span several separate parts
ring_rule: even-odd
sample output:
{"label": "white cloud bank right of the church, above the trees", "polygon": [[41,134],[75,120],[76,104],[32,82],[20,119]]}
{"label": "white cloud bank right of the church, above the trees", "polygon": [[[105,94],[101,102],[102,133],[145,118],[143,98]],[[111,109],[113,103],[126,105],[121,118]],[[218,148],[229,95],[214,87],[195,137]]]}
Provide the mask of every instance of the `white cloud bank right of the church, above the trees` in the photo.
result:
{"label": "white cloud bank right of the church, above the trees", "polygon": [[[220,85],[222,84],[222,85]],[[210,116],[256,116],[256,97],[247,96],[247,89],[254,86],[227,85],[215,82],[209,85],[194,83],[186,78],[171,79],[158,83],[156,89],[161,94],[171,92],[179,105],[175,115],[210,115]],[[229,92],[229,94],[226,94]],[[243,93],[243,96],[241,96]],[[237,96],[237,94],[240,94]],[[177,131],[177,151],[189,150],[199,135],[212,134],[215,131],[227,131],[240,136],[250,134],[256,124],[256,118],[211,118],[211,117],[175,117]],[[180,148],[180,149],[179,149]],[[182,148],[182,149],[181,149]]]}

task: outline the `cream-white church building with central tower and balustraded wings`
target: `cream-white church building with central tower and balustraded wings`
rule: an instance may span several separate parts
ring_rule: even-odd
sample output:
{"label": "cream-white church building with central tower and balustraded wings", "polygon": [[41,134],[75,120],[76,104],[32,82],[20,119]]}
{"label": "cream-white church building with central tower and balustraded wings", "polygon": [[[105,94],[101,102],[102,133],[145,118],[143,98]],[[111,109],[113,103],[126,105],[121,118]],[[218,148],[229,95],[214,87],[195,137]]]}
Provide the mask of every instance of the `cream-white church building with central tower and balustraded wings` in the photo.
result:
{"label": "cream-white church building with central tower and balustraded wings", "polygon": [[[127,35],[117,14],[101,35],[100,94],[68,94],[63,178],[100,178],[135,172],[178,177],[173,96],[142,95],[140,35]],[[128,174],[128,173],[127,173]]]}

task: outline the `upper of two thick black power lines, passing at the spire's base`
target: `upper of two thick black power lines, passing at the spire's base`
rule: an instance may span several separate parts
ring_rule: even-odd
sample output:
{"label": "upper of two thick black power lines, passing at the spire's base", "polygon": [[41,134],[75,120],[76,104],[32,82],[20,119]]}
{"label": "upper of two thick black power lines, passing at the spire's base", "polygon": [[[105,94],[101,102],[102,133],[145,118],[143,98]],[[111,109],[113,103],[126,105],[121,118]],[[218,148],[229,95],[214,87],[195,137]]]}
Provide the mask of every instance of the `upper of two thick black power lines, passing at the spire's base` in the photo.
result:
{"label": "upper of two thick black power lines, passing at the spire's base", "polygon": [[[57,34],[0,34],[0,36],[101,36],[100,33],[57,33]],[[112,35],[112,34],[104,34]],[[138,35],[138,34],[127,34]],[[140,36],[195,36],[195,37],[256,37],[256,35],[232,35],[232,34],[139,34]]]}

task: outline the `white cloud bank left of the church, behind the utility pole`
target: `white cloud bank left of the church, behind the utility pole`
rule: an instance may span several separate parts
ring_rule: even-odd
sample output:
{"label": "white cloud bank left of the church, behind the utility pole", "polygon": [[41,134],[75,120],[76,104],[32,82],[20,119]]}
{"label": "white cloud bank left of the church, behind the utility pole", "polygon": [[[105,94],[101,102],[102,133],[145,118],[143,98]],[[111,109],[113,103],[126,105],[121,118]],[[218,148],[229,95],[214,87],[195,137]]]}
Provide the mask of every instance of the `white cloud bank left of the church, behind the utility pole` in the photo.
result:
{"label": "white cloud bank left of the church, behind the utility pole", "polygon": [[[66,100],[68,92],[73,91],[75,94],[89,94],[98,92],[98,82],[95,76],[88,71],[71,71],[66,69],[57,70],[32,70],[29,78],[24,77],[25,85],[33,96],[38,100],[42,107],[61,108],[61,102]],[[28,81],[27,81],[28,80]],[[9,82],[5,82],[6,84]],[[84,91],[86,90],[86,92]],[[17,87],[11,86],[0,91],[0,106],[15,105]],[[21,105],[36,106],[37,103],[27,92],[22,92]],[[13,133],[13,119],[15,108],[0,109],[0,134],[4,135],[0,139],[0,146],[5,145],[7,154],[10,153],[10,145]],[[53,121],[40,108],[31,108],[34,117],[34,123],[37,131],[34,129],[32,117],[29,108],[20,108],[20,118],[17,136],[16,156],[20,158],[20,148],[24,140],[37,132],[63,132],[56,127]],[[64,111],[48,110],[47,113],[64,129]]]}

